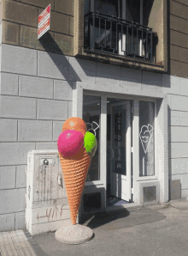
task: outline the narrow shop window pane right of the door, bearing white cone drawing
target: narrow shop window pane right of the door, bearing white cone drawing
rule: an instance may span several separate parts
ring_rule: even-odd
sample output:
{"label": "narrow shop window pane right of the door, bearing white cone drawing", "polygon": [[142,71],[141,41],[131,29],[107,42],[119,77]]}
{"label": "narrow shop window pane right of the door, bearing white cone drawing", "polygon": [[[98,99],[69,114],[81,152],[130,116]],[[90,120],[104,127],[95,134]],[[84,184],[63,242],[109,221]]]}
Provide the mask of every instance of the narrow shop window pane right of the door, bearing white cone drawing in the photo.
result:
{"label": "narrow shop window pane right of the door, bearing white cone drawing", "polygon": [[155,175],[155,104],[139,101],[139,176]]}

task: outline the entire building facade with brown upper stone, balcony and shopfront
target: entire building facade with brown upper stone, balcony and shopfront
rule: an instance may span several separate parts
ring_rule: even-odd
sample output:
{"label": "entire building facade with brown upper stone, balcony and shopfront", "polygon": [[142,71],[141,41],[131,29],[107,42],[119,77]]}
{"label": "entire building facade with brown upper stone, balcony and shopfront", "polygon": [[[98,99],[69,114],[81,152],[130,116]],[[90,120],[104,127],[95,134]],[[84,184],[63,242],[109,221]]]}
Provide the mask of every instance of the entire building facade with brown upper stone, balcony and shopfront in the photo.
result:
{"label": "entire building facade with brown upper stone, balcony and shopfront", "polygon": [[[38,15],[50,4],[50,31]],[[188,195],[186,0],[3,0],[0,231],[25,225],[27,152],[63,122],[97,136],[80,216]]]}

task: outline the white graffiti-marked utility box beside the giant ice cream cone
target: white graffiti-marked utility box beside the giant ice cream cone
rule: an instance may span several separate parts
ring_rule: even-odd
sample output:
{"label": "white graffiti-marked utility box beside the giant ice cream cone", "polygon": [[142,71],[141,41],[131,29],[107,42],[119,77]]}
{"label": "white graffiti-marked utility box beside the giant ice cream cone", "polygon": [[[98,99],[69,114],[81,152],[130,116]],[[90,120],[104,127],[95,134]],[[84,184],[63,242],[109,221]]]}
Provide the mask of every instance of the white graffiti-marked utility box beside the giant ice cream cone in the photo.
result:
{"label": "white graffiti-marked utility box beside the giant ice cream cone", "polygon": [[36,235],[70,224],[68,197],[58,151],[29,151],[26,171],[26,229],[31,235]]}

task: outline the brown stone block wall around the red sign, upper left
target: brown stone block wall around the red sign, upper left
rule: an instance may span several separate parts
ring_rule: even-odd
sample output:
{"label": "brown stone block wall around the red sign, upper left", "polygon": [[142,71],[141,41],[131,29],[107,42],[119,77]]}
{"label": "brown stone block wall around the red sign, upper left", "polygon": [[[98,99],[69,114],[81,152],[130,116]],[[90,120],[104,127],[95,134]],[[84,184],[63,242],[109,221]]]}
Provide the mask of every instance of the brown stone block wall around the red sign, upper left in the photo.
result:
{"label": "brown stone block wall around the red sign, upper left", "polygon": [[[73,0],[3,0],[2,41],[58,54],[73,55]],[[38,15],[50,4],[50,32],[38,40]]]}

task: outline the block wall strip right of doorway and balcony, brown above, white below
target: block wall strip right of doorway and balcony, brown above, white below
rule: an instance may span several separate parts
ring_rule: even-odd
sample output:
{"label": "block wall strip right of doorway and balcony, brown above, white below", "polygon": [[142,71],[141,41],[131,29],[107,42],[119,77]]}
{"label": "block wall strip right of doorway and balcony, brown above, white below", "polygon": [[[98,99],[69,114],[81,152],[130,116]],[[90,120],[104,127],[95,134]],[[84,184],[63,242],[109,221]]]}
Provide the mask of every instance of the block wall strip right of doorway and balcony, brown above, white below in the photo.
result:
{"label": "block wall strip right of doorway and balcony, brown above, white below", "polygon": [[168,93],[169,180],[180,180],[188,197],[188,2],[170,0]]}

